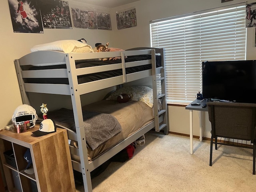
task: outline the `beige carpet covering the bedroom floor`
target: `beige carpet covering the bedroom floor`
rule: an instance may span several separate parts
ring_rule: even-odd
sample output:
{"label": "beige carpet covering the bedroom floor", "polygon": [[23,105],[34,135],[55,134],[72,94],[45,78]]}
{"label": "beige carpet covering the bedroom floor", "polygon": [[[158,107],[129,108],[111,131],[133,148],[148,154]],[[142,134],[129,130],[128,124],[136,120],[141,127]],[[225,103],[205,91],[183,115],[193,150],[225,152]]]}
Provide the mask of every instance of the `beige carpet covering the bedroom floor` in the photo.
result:
{"label": "beige carpet covering the bedroom floor", "polygon": [[[219,145],[209,166],[210,141],[150,131],[131,160],[112,162],[92,179],[93,192],[256,192],[252,149]],[[83,186],[77,186],[83,192]]]}

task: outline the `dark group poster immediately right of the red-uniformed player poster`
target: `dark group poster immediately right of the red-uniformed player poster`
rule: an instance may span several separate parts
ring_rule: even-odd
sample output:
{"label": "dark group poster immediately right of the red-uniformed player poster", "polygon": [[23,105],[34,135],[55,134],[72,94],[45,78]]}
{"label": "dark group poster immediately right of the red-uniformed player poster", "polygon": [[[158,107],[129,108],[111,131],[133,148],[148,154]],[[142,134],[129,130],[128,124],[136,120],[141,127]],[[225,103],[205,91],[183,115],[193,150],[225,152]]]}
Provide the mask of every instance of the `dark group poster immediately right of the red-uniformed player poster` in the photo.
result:
{"label": "dark group poster immediately right of the red-uniformed player poster", "polygon": [[37,0],[44,28],[72,29],[68,1]]}

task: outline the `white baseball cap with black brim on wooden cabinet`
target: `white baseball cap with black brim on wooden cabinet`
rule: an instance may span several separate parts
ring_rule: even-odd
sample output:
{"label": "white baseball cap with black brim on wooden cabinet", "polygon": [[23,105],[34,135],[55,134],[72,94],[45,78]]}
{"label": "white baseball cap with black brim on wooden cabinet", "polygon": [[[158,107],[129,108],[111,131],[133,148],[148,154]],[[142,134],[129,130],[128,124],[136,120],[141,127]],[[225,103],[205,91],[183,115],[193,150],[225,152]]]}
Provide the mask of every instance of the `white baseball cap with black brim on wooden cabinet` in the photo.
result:
{"label": "white baseball cap with black brim on wooden cabinet", "polygon": [[32,132],[32,136],[39,137],[53,132],[56,132],[54,120],[45,119],[41,122],[39,130]]}

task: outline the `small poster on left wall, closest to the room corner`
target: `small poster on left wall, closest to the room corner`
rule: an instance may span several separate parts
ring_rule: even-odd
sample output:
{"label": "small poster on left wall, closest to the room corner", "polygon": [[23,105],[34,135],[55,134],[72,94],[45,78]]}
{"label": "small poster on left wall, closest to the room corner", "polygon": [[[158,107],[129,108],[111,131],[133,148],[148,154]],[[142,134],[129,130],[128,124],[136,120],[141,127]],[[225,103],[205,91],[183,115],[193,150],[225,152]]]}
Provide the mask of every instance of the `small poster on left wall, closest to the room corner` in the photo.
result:
{"label": "small poster on left wall, closest to the room corner", "polygon": [[97,29],[112,30],[110,14],[96,12]]}

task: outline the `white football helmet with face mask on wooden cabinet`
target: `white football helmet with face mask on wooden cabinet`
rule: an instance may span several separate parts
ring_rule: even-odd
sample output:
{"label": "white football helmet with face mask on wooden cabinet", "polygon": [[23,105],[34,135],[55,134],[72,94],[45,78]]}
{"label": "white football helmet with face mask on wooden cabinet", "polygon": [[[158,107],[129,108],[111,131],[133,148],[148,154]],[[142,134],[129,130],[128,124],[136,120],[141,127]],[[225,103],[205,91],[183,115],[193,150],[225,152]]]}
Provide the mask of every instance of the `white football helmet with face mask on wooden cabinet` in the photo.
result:
{"label": "white football helmet with face mask on wooden cabinet", "polygon": [[14,131],[22,133],[33,128],[37,117],[36,110],[32,106],[27,104],[18,106],[12,116]]}

